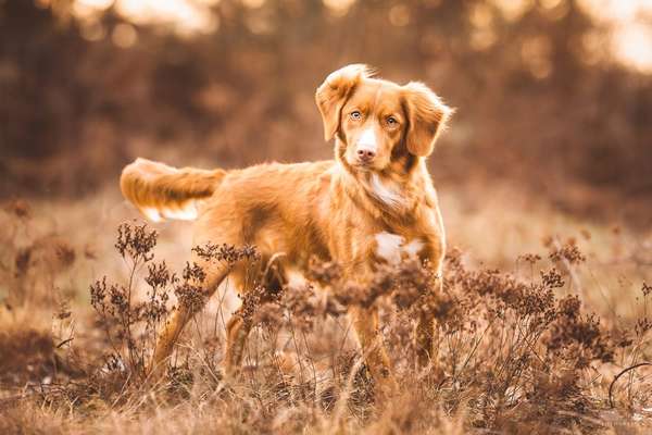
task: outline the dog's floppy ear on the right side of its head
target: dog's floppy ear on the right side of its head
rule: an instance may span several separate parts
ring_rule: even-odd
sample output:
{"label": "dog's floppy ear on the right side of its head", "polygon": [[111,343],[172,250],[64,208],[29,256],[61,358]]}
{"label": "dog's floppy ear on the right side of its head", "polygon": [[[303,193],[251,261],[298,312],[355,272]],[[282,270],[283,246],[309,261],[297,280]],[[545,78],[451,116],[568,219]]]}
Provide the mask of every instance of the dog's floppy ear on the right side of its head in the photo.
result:
{"label": "dog's floppy ear on the right side of its head", "polygon": [[437,136],[446,127],[453,110],[418,82],[403,86],[403,105],[408,115],[408,151],[419,157],[430,156]]}

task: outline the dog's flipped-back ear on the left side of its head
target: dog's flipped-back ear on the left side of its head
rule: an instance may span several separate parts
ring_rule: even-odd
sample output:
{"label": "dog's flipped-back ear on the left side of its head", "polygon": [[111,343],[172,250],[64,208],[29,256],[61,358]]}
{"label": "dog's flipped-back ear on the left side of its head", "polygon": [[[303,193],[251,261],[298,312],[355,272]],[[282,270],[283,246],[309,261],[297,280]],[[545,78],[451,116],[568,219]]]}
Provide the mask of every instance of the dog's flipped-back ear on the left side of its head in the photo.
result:
{"label": "dog's flipped-back ear on the left side of its head", "polygon": [[339,129],[340,113],[355,86],[372,75],[373,71],[361,63],[347,65],[330,73],[317,88],[315,101],[324,121],[326,140],[333,139]]}

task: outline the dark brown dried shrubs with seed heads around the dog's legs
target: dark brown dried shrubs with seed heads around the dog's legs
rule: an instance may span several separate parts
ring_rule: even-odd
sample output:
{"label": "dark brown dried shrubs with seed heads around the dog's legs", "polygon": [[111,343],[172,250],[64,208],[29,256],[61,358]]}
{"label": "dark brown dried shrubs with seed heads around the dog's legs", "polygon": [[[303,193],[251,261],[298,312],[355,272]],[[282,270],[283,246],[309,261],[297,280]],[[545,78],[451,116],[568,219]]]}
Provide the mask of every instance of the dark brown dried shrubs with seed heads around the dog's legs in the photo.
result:
{"label": "dark brown dried shrubs with seed heads around the dog's legs", "polygon": [[[199,287],[205,272],[186,264],[176,275],[164,261],[154,261],[155,243],[155,232],[147,226],[121,225],[116,249],[127,260],[128,282],[115,284],[104,277],[91,286],[91,304],[108,351],[76,381],[41,386],[38,397],[49,407],[96,410],[91,413],[112,408],[143,415],[188,407],[187,412],[202,409],[222,415],[211,421],[217,419],[227,432],[337,427],[342,433],[421,434],[438,433],[437,423],[450,433],[547,434],[569,427],[588,433],[602,426],[609,398],[594,374],[615,361],[643,358],[650,330],[643,314],[632,337],[606,331],[577,296],[566,294],[566,266],[521,279],[497,270],[469,269],[462,252],[452,250],[443,291],[432,294],[439,277],[427,263],[380,268],[369,286],[352,287],[337,264],[313,261],[305,285],[269,286],[268,268],[242,291],[242,308],[234,315],[254,328],[239,383],[222,381],[222,337],[215,328],[199,340],[187,334],[190,337],[177,348],[177,357],[185,358],[173,359],[162,384],[148,385],[142,382],[145,368],[172,295],[177,303],[196,304],[198,310],[205,303]],[[259,259],[254,247],[215,245],[195,251],[208,262]],[[565,259],[575,268],[584,258],[574,244],[555,252],[554,264]],[[541,261],[536,254],[519,259],[532,265]],[[142,300],[135,297],[138,270],[146,271]],[[644,284],[643,297],[649,293]],[[401,385],[389,407],[375,402],[374,383],[360,352],[344,346],[349,338],[342,314],[351,306],[372,304],[381,308],[387,321],[381,332]],[[415,364],[413,344],[415,320],[424,313],[437,319],[437,351],[430,366],[422,370]],[[17,339],[27,346],[7,338],[0,349],[23,355],[16,361],[38,357],[47,368],[51,338],[41,337],[47,346],[28,334]],[[39,348],[46,350],[43,356],[30,353]],[[618,406],[645,403],[650,389],[637,380],[615,386]]]}

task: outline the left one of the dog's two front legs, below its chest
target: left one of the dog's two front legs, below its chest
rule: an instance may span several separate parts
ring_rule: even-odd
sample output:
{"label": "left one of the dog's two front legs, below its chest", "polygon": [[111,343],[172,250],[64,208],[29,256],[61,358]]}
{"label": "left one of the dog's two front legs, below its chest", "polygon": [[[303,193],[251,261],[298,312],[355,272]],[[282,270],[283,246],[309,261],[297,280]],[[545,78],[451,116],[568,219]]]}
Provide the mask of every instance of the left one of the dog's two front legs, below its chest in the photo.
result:
{"label": "left one of the dog's two front legs, below its chest", "polygon": [[381,399],[391,397],[397,390],[397,383],[378,331],[378,310],[352,307],[349,315],[353,321],[364,361],[374,378],[377,396]]}

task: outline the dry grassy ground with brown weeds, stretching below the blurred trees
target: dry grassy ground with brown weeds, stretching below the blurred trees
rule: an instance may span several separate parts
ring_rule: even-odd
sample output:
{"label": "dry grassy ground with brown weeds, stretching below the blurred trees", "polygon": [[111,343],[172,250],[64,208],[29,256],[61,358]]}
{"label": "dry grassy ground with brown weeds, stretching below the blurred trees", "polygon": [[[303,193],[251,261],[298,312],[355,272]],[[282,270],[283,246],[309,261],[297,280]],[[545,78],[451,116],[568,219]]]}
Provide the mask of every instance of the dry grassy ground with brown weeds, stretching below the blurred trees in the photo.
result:
{"label": "dry grassy ground with brown weeds, stretching below the blurred trees", "polygon": [[[102,206],[120,203],[114,194],[4,204],[0,432],[647,433],[650,369],[612,381],[650,360],[650,235],[578,221],[513,189],[497,187],[491,202],[443,190],[463,250],[449,254],[442,295],[424,296],[430,275],[416,263],[381,271],[368,288],[349,286],[334,264],[314,264],[306,287],[252,281],[235,315],[258,326],[236,385],[220,370],[237,307],[226,288],[191,322],[163,380],[143,370],[170,308],[203,303],[201,271],[185,265],[188,227],[154,235],[127,221],[116,240],[131,211]],[[253,254],[224,249],[205,253]],[[374,402],[342,315],[368,303],[383,308],[402,386],[391,403]],[[418,370],[413,319],[424,310],[438,318],[438,353]]]}

